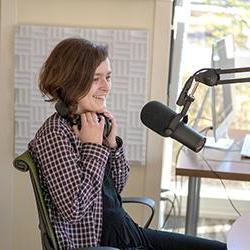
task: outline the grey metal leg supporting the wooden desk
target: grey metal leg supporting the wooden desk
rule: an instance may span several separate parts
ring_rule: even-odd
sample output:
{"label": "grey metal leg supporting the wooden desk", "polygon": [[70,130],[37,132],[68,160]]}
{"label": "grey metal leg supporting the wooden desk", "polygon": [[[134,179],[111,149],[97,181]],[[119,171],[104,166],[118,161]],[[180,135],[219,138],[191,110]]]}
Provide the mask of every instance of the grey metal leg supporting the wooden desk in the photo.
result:
{"label": "grey metal leg supporting the wooden desk", "polygon": [[196,235],[200,206],[201,178],[189,177],[185,234]]}

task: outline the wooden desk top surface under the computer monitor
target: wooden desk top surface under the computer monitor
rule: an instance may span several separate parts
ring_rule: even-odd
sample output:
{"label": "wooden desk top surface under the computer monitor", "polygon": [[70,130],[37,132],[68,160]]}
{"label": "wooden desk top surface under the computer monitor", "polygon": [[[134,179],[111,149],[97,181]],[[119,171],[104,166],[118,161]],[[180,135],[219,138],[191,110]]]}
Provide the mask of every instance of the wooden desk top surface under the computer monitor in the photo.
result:
{"label": "wooden desk top surface under the computer monitor", "polygon": [[250,181],[250,159],[241,158],[240,155],[246,133],[250,131],[230,131],[235,142],[229,150],[204,148],[199,153],[194,153],[183,148],[176,175]]}

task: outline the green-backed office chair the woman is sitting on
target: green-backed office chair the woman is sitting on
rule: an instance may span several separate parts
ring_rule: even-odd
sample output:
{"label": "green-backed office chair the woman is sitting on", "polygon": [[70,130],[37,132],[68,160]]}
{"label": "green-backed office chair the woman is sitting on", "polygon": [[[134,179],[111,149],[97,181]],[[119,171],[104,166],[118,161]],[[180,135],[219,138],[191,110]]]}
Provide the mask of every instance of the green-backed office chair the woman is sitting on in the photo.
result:
{"label": "green-backed office chair the woman is sitting on", "polygon": [[[50,223],[49,215],[47,208],[45,206],[42,189],[40,186],[39,176],[38,176],[38,166],[34,163],[30,152],[27,150],[23,154],[16,157],[13,161],[13,165],[16,169],[22,172],[29,171],[30,179],[33,186],[33,191],[35,195],[37,210],[38,210],[38,218],[39,218],[39,229],[41,233],[41,241],[42,241],[42,249],[43,250],[58,250],[58,243],[56,236],[54,234],[52,225]],[[153,216],[154,216],[154,207],[155,202],[146,197],[126,197],[123,198],[124,203],[139,203],[146,205],[150,208],[151,214],[148,220],[146,221],[144,227],[148,227]],[[113,247],[86,247],[82,249],[102,249],[102,250],[112,250],[116,249]]]}

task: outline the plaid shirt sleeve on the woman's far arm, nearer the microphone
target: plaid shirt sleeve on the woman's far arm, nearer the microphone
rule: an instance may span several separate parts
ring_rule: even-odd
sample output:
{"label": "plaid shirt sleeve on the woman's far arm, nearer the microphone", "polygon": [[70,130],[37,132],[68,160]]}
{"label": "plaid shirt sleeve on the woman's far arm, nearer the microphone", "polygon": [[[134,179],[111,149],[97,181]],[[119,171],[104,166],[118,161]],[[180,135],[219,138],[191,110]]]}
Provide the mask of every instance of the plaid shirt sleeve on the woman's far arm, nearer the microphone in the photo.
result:
{"label": "plaid shirt sleeve on the woman's far arm, nearer the microphone", "polygon": [[115,187],[121,193],[128,179],[129,163],[125,157],[122,139],[116,137],[116,141],[118,147],[111,150],[110,164]]}

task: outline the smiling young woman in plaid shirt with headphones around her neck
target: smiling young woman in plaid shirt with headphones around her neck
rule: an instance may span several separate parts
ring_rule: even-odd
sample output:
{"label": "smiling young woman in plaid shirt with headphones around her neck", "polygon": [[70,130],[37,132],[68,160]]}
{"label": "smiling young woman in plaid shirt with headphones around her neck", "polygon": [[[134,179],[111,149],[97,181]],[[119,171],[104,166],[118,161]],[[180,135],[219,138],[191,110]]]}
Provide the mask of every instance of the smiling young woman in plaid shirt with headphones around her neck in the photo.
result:
{"label": "smiling young woman in plaid shirt with headphones around her neck", "polygon": [[44,63],[41,92],[57,102],[29,143],[60,249],[224,250],[224,243],[140,228],[120,193],[129,165],[106,109],[111,89],[107,48],[77,38],[60,42]]}

